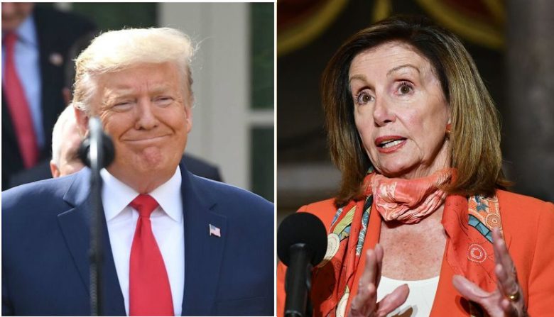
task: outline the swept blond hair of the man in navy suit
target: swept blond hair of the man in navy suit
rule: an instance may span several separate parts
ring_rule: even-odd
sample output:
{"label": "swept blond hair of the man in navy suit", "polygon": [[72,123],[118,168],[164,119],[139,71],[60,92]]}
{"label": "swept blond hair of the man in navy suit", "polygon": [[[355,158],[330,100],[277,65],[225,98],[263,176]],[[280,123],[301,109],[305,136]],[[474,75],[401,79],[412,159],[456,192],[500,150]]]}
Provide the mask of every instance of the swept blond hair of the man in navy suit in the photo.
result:
{"label": "swept blond hair of the man in navy suit", "polygon": [[173,62],[188,89],[192,104],[190,62],[195,53],[190,38],[174,28],[127,28],[102,33],[75,60],[72,104],[85,113],[99,74],[117,72],[143,63]]}

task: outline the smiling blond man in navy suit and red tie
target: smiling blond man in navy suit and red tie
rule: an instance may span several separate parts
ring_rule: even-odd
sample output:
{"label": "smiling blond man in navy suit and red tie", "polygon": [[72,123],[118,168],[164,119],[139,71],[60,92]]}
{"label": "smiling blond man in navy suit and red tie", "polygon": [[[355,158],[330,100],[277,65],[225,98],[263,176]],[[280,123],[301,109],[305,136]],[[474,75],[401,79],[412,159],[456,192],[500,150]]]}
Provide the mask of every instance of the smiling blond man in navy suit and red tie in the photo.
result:
{"label": "smiling blond man in navy suit and red tie", "polygon": [[[77,59],[77,124],[99,116],[104,315],[273,315],[273,204],[188,172],[192,45],[169,28],[104,33]],[[90,170],[2,193],[2,313],[89,313]]]}

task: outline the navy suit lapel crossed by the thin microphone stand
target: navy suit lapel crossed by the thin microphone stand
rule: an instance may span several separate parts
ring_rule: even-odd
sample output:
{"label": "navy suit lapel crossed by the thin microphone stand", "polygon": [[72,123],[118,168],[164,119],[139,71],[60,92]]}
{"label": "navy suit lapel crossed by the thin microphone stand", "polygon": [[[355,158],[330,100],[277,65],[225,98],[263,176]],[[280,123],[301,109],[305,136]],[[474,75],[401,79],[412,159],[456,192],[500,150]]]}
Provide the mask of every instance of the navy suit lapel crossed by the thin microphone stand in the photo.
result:
{"label": "navy suit lapel crossed by the thin microphone stand", "polygon": [[[75,181],[64,196],[68,204],[74,206],[58,215],[58,222],[63,232],[67,248],[69,249],[75,266],[80,272],[83,287],[89,291],[89,245],[90,245],[90,196],[89,196],[89,169],[85,168],[77,173]],[[104,262],[102,264],[102,315],[125,315],[125,306],[119,279],[114,265],[112,248],[109,243],[104,213],[102,213],[102,250]]]}

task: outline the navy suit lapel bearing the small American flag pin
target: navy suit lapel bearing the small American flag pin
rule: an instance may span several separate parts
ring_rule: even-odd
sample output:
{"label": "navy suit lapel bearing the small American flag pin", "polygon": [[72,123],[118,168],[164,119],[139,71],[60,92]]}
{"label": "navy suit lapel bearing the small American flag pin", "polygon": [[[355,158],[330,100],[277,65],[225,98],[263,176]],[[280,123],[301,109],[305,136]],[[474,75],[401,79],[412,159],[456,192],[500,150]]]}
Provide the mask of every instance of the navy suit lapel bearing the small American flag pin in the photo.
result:
{"label": "navy suit lapel bearing the small American flag pin", "polygon": [[[180,165],[185,226],[185,289],[183,316],[210,315],[219,280],[227,235],[227,218],[211,211],[215,197],[197,188],[196,180]],[[221,237],[210,235],[210,224]]]}

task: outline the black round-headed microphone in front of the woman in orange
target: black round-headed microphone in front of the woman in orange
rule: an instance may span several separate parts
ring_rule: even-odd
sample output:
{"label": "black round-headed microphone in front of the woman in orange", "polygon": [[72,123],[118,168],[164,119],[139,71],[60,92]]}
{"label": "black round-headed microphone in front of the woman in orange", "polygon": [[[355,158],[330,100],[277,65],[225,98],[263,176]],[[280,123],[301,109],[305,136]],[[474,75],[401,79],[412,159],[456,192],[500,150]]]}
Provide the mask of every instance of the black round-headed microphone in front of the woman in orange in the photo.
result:
{"label": "black round-headed microphone in front of the woman in orange", "polygon": [[277,230],[277,255],[288,266],[285,316],[304,317],[311,289],[312,269],[327,252],[327,230],[311,213],[293,213]]}

